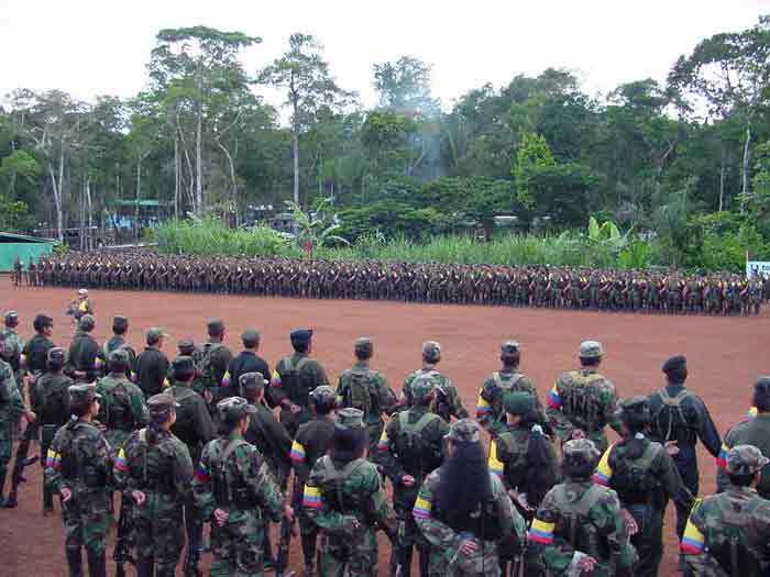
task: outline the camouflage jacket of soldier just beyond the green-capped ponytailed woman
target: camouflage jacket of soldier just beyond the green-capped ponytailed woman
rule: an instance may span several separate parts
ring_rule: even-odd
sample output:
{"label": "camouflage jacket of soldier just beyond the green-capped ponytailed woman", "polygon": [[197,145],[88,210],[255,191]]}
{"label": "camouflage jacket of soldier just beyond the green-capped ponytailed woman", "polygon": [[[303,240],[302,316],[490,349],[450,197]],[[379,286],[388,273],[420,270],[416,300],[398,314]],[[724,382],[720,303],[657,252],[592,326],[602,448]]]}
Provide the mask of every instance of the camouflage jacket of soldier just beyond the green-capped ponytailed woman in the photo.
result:
{"label": "camouflage jacket of soldier just beyond the green-capped ponytailed woman", "polygon": [[507,429],[503,397],[509,391],[529,392],[535,399],[537,421],[546,422],[538,391],[529,377],[518,370],[498,370],[493,373],[482,385],[476,400],[476,420],[490,433],[504,433]]}

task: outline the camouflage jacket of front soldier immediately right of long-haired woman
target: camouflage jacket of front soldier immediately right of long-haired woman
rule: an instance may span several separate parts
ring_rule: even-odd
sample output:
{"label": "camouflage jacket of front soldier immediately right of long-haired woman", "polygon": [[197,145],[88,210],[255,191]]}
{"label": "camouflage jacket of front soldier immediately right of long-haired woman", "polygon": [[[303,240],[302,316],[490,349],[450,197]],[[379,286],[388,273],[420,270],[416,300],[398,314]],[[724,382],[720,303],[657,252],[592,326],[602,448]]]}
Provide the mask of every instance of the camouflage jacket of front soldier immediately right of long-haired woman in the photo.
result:
{"label": "camouflage jacket of front soldier immediately right of long-haired woman", "polygon": [[542,554],[551,575],[566,575],[576,552],[598,562],[595,576],[630,575],[636,561],[617,495],[590,480],[553,487],[538,508],[527,541]]}

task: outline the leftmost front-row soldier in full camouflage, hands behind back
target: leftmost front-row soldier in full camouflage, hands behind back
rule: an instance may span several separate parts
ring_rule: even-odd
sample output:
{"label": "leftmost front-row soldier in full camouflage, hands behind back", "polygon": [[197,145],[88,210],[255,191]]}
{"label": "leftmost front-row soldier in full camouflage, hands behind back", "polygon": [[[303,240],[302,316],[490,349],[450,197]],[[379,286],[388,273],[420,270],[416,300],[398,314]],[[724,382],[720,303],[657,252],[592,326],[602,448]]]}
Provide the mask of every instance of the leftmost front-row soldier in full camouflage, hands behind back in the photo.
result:
{"label": "leftmost front-row soldier in full camouflage, hands behind back", "polygon": [[110,529],[108,477],[110,446],[92,422],[99,414],[94,385],[69,387],[73,418],[56,432],[46,455],[45,479],[59,495],[66,529],[70,577],[82,576],[80,548],[86,548],[90,577],[105,577],[105,550]]}

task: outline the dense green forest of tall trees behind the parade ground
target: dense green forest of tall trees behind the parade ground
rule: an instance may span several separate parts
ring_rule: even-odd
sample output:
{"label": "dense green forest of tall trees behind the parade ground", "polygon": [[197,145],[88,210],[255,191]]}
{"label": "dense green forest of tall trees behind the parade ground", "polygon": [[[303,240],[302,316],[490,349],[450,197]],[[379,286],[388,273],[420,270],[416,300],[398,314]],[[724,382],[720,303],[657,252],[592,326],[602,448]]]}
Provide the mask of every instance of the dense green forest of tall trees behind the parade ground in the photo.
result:
{"label": "dense green forest of tall trees behind the parade ground", "polygon": [[[250,224],[330,199],[337,234],[420,240],[463,229],[554,235],[612,221],[656,262],[736,268],[770,258],[770,18],[704,38],[664,81],[588,95],[570,70],[470,89],[449,106],[418,57],[374,64],[378,106],[341,87],[312,36],[258,70],[261,42],[163,30],[145,89],[80,102],[20,89],[0,108],[0,230],[165,215]],[[268,104],[265,91],[284,104]],[[122,209],[121,209],[122,208]]]}

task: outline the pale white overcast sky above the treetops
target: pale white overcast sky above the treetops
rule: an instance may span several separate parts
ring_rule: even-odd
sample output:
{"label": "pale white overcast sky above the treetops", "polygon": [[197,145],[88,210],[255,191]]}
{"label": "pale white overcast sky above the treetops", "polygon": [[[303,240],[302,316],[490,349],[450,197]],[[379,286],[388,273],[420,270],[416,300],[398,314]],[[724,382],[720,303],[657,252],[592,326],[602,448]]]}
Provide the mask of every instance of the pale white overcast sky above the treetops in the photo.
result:
{"label": "pale white overcast sky above the treetops", "polygon": [[261,36],[250,71],[293,32],[316,35],[340,86],[375,103],[372,64],[402,55],[433,66],[444,108],[485,82],[544,68],[575,70],[585,89],[663,80],[681,54],[718,32],[750,27],[770,0],[0,0],[0,96],[57,88],[84,100],[135,95],[154,36],[204,24]]}

